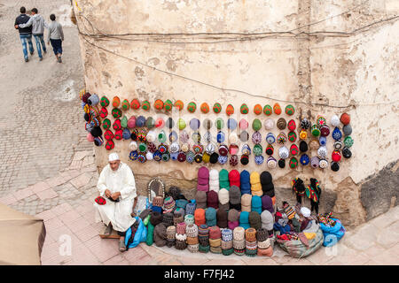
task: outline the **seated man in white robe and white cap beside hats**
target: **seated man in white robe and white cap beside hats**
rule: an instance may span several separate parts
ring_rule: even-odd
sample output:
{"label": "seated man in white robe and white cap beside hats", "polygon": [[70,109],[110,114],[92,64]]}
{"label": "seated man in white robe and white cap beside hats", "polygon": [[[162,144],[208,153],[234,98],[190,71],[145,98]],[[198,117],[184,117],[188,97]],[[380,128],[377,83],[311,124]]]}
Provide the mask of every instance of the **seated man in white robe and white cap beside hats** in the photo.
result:
{"label": "seated man in white robe and white cap beside hats", "polygon": [[121,163],[118,154],[111,153],[108,162],[98,178],[98,191],[106,204],[94,203],[96,221],[107,226],[106,234],[112,229],[118,233],[119,249],[125,251],[125,233],[136,221],[132,213],[137,204],[136,182],[130,167]]}

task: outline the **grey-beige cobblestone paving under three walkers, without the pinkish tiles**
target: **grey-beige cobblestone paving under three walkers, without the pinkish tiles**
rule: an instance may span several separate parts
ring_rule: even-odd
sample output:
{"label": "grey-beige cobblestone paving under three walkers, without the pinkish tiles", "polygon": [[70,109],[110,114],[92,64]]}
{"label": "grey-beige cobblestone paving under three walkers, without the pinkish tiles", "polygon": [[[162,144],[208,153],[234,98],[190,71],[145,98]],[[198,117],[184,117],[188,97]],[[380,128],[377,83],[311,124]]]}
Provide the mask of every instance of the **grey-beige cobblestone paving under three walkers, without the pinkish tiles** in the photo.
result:
{"label": "grey-beige cobblestone paving under three walkers, without the pinkish tiles", "polygon": [[[35,53],[23,59],[18,31],[13,28],[20,6],[36,7],[47,21],[54,12],[63,22],[63,64],[51,46],[43,61]],[[55,176],[66,168],[85,141],[82,111],[76,96],[84,85],[76,27],[66,20],[69,0],[0,0],[0,197]],[[27,200],[32,210],[39,201]]]}

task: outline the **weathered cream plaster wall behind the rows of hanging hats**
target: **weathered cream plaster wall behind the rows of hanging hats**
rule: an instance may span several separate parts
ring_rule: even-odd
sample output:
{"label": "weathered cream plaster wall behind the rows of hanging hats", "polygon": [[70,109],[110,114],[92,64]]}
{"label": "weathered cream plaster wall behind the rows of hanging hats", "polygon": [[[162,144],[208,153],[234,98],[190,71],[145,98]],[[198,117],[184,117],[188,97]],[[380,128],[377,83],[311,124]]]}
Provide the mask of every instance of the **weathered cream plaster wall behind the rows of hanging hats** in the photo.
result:
{"label": "weathered cream plaster wall behind the rows of hanging hats", "polygon": [[[217,101],[223,107],[232,103],[233,118],[237,120],[242,118],[239,106],[247,103],[250,113],[245,118],[249,121],[256,116],[254,104],[273,105],[274,99],[296,101],[293,105],[297,122],[301,117],[314,121],[318,114],[329,120],[333,114],[347,111],[354,129],[353,157],[340,163],[339,172],[313,170],[309,166],[272,170],[278,201],[294,202],[290,188],[293,177],[301,177],[308,183],[314,176],[324,188],[321,210],[332,210],[345,224],[356,226],[388,209],[388,206],[380,208],[380,203],[387,203],[380,202],[380,197],[396,195],[397,198],[396,187],[391,196],[374,195],[375,202],[364,202],[360,195],[364,180],[387,164],[396,163],[399,157],[396,126],[399,59],[395,33],[399,23],[391,20],[356,31],[395,16],[399,11],[395,1],[82,0],[77,3],[74,12],[82,33],[136,34],[120,36],[121,39],[81,35],[86,89],[90,92],[110,98],[118,95],[121,99],[148,99],[152,103],[157,98],[181,99],[184,103],[196,102],[198,108],[203,102],[213,105]],[[276,31],[291,33],[262,34],[251,41],[239,34],[200,34]],[[352,31],[355,32],[348,34]],[[194,33],[197,35],[165,35]],[[356,106],[338,109],[310,103]],[[285,107],[287,103],[280,104]],[[194,116],[201,121],[216,118],[214,113],[201,115],[199,109],[195,114],[182,112],[173,112],[171,116],[186,121]],[[133,114],[165,115],[143,110],[127,112],[128,117]],[[219,116],[226,119],[224,114]],[[288,119],[285,114],[281,116]],[[256,118],[264,120],[266,116]],[[277,120],[274,114],[272,118]],[[273,131],[278,132],[278,129]],[[216,133],[215,126],[212,133]],[[263,129],[263,138],[265,134]],[[330,136],[329,155],[332,143]],[[252,142],[249,144],[253,146]],[[116,141],[114,151],[132,167],[142,194],[153,176],[163,178],[167,187],[179,185],[188,196],[193,194],[200,165],[132,163],[128,145],[129,142]],[[99,170],[106,164],[108,153],[104,148],[96,148]],[[232,169],[230,165],[212,167]],[[245,169],[268,170],[265,164],[255,165],[253,157]],[[397,180],[397,171],[390,178]]]}

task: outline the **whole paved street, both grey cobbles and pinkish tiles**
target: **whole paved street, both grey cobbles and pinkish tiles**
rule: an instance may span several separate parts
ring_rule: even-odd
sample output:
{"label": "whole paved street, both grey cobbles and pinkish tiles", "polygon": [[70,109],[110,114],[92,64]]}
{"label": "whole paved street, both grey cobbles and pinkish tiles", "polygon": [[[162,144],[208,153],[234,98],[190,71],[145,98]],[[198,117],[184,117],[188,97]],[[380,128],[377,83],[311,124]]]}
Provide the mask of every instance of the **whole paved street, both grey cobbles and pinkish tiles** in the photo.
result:
{"label": "whole paved street, both grey cobbles and pinkish tiles", "polygon": [[271,257],[250,258],[192,254],[145,243],[120,253],[118,241],[101,240],[103,226],[94,223],[92,205],[98,172],[76,99],[83,86],[76,28],[65,20],[62,65],[51,50],[43,62],[35,54],[25,63],[12,29],[20,5],[35,6],[47,19],[51,12],[68,14],[68,4],[0,0],[0,65],[6,66],[0,71],[0,203],[44,219],[43,264],[399,264],[398,207],[349,231],[335,248],[321,248],[299,260],[277,246]]}

